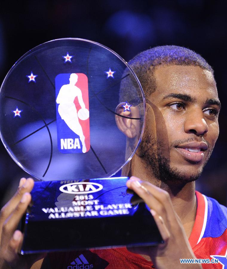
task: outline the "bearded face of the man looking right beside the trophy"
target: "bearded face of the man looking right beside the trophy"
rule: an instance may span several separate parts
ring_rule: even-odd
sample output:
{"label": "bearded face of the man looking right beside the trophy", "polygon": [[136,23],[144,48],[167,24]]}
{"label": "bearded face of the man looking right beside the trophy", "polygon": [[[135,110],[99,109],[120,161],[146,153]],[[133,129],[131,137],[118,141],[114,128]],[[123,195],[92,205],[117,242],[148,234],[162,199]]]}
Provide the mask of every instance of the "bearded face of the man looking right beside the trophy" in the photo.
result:
{"label": "bearded face of the man looking right beside the trophy", "polygon": [[[186,183],[199,177],[219,134],[220,110],[211,72],[197,66],[160,65],[156,91],[147,101],[141,149],[163,181]],[[156,164],[155,164],[156,163]]]}

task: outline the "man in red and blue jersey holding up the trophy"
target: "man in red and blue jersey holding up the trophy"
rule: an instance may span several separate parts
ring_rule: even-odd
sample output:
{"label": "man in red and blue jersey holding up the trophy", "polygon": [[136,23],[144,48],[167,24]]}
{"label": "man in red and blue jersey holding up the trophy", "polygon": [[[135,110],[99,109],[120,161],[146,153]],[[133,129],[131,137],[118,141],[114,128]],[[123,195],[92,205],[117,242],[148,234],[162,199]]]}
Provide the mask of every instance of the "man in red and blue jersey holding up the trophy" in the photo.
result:
{"label": "man in red and blue jersey holding up the trophy", "polygon": [[[165,243],[129,250],[48,253],[32,268],[221,269],[226,265],[227,209],[195,192],[195,180],[219,134],[220,101],[213,70],[200,55],[177,46],[152,48],[129,64],[145,92],[147,114],[142,142],[128,167],[127,174],[133,176],[127,187],[148,204]],[[125,112],[133,117],[133,110]],[[124,118],[119,128],[127,135],[133,124]],[[1,268],[29,268],[40,258],[16,252],[22,240],[16,227],[30,203],[32,188],[33,180],[22,178],[1,211]],[[135,233],[138,229],[143,227],[135,227]],[[79,257],[81,265],[74,262],[73,266]],[[180,263],[180,259],[212,257],[219,262]]]}

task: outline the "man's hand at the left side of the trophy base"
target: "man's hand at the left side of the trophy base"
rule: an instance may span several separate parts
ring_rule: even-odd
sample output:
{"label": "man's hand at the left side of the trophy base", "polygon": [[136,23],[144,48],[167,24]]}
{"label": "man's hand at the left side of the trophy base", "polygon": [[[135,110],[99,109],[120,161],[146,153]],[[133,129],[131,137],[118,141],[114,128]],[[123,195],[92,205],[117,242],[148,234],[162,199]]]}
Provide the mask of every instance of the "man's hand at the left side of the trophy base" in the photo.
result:
{"label": "man's hand at the left side of the trophy base", "polygon": [[19,255],[18,250],[23,240],[22,232],[16,230],[20,219],[31,201],[32,178],[21,178],[15,195],[0,212],[0,268],[27,269],[41,259],[43,255]]}

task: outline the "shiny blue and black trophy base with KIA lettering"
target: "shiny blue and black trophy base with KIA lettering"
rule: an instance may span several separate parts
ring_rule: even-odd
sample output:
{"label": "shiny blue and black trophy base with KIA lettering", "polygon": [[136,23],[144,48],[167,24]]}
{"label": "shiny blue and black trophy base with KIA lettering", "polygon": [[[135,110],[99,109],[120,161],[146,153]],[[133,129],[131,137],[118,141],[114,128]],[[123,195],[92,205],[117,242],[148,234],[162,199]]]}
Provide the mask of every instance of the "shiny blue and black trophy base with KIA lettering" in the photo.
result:
{"label": "shiny blue and black trophy base with KIA lettering", "polygon": [[21,254],[162,243],[148,207],[132,205],[128,178],[35,182]]}

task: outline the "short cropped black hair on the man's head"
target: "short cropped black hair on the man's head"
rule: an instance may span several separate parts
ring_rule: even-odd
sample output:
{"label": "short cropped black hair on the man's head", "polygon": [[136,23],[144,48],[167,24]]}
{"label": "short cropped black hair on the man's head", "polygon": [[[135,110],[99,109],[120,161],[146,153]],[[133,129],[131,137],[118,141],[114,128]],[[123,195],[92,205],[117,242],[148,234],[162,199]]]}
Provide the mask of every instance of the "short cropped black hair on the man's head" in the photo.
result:
{"label": "short cropped black hair on the man's head", "polygon": [[[210,71],[214,76],[213,68],[200,54],[188,48],[176,45],[158,46],[142,51],[131,59],[128,64],[136,73],[146,98],[156,90],[154,71],[155,67],[158,65],[199,66]],[[124,86],[126,86],[126,84],[127,82]],[[129,97],[128,100],[130,100]]]}

